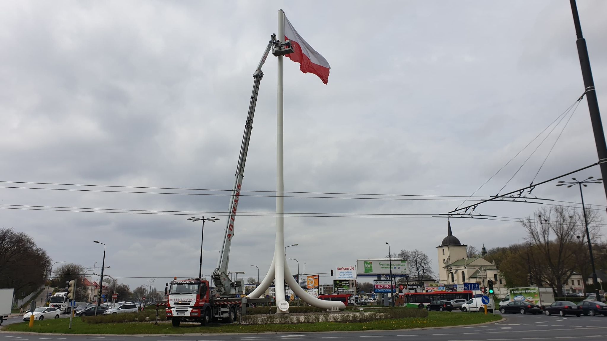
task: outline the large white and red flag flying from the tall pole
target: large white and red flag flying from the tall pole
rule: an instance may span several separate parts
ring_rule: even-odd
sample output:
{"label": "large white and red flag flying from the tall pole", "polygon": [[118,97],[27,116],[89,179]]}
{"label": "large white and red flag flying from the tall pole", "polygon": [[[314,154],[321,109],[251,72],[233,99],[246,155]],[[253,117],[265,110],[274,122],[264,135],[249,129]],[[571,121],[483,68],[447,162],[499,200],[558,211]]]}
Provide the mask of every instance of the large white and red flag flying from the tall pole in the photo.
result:
{"label": "large white and red flag flying from the tall pole", "polygon": [[285,55],[287,58],[291,58],[294,62],[299,62],[299,70],[303,73],[314,73],[322,79],[322,83],[327,84],[329,79],[329,70],[331,66],[327,62],[320,53],[316,52],[316,50],[312,49],[310,44],[305,42],[305,40],[297,33],[297,31],[287,19],[285,18],[285,40],[289,39],[291,41],[291,47],[293,48],[293,52]]}

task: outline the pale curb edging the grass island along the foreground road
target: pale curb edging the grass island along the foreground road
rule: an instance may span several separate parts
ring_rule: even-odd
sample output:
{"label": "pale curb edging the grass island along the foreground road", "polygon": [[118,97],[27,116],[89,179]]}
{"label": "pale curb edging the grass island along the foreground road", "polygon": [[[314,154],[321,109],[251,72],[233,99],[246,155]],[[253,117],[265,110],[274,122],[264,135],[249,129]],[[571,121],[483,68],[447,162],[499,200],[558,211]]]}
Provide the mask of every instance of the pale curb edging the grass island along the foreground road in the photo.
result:
{"label": "pale curb edging the grass island along the foreground road", "polygon": [[382,331],[414,331],[426,329],[446,329],[446,328],[462,328],[469,326],[483,326],[492,323],[500,323],[506,321],[506,317],[501,320],[474,323],[472,325],[456,325],[456,326],[440,326],[440,327],[421,327],[409,329],[373,329],[373,330],[343,330],[343,331],[267,331],[263,333],[188,333],[188,334],[58,334],[58,333],[34,333],[30,331],[5,331],[0,329],[0,334],[30,334],[30,335],[61,335],[61,336],[217,336],[217,335],[268,335],[268,334],[328,334],[328,333],[377,333]]}

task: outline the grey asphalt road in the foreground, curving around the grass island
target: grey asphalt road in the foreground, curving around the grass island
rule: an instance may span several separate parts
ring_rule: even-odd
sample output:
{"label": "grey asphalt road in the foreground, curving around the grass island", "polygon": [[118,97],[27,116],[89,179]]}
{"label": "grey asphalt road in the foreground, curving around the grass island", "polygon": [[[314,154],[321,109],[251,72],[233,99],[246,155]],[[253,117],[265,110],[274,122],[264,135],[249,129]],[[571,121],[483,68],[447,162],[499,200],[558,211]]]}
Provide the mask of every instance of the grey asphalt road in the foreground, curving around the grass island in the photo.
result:
{"label": "grey asphalt road in the foreground, curving around the grass island", "polygon": [[257,340],[364,340],[364,341],[496,341],[496,340],[607,340],[607,317],[554,317],[507,314],[507,320],[483,326],[413,331],[356,331],[298,334],[206,334],[188,336],[78,336],[0,333],[0,341],[257,341]]}

